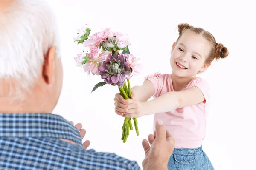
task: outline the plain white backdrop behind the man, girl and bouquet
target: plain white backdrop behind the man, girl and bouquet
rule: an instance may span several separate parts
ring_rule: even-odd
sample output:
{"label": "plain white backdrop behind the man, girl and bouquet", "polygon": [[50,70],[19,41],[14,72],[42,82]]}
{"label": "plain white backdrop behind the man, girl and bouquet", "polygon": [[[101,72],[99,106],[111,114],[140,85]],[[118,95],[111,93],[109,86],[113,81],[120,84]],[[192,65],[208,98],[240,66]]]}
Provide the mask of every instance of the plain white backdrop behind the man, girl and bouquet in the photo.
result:
{"label": "plain white backdrop behind the man, girl and bouquet", "polygon": [[[135,1],[135,0],[49,0],[58,19],[64,85],[53,113],[87,130],[89,148],[114,152],[137,161],[144,159],[141,142],[152,133],[153,115],[138,120],[140,136],[131,131],[121,140],[123,118],[114,113],[117,87],[105,85],[90,93],[102,81],[76,67],[74,57],[87,48],[76,45],[77,29],[88,24],[92,33],[102,28],[128,34],[130,51],[143,63],[140,76],[131,86],[141,85],[147,74],[171,73],[169,51],[177,39],[179,23],[189,23],[211,32],[229,50],[226,59],[213,62],[200,74],[212,88],[212,103],[203,149],[215,170],[247,170],[255,164],[255,16],[249,1]],[[170,103],[171,104],[171,103]]]}

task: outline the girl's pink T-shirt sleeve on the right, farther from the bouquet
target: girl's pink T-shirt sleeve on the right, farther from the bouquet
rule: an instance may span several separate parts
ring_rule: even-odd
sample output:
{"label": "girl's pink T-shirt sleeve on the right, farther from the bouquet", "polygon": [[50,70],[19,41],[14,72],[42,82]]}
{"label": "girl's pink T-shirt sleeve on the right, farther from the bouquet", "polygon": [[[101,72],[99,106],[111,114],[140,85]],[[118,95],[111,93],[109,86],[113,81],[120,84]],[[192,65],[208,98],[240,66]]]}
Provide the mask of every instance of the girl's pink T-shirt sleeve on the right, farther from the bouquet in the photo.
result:
{"label": "girl's pink T-shirt sleeve on the right, farther from the bouquet", "polygon": [[193,80],[193,82],[191,83],[191,85],[189,86],[189,88],[191,87],[197,87],[201,90],[201,92],[204,95],[204,101],[203,103],[209,102],[210,100],[210,85],[208,84],[208,82],[206,82],[204,79],[200,78],[200,77],[196,77],[196,79]]}

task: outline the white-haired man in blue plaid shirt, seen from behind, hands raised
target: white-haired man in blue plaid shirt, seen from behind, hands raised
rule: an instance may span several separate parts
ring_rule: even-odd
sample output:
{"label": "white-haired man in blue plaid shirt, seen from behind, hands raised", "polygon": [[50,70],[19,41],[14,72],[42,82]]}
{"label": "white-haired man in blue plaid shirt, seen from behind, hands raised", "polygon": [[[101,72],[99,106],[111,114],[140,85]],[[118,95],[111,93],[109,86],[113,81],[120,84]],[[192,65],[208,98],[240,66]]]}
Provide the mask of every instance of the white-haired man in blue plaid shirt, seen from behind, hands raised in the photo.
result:
{"label": "white-haired man in blue plaid shirt, seen from behind, hands raised", "polygon": [[[86,150],[85,130],[52,114],[62,88],[58,28],[43,0],[0,0],[0,169],[138,170],[114,153]],[[158,122],[143,140],[143,169],[167,169],[174,140]]]}

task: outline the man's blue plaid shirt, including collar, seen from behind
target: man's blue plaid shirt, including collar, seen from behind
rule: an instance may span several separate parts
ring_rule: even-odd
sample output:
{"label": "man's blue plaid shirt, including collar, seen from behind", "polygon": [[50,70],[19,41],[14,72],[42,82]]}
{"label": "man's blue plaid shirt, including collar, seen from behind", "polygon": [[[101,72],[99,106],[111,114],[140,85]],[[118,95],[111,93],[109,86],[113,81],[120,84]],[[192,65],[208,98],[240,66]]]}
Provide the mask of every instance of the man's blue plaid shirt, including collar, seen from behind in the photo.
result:
{"label": "man's blue plaid shirt, including collar, seen from behind", "polygon": [[137,162],[114,153],[83,149],[78,130],[61,116],[0,113],[0,170],[140,170],[140,167]]}

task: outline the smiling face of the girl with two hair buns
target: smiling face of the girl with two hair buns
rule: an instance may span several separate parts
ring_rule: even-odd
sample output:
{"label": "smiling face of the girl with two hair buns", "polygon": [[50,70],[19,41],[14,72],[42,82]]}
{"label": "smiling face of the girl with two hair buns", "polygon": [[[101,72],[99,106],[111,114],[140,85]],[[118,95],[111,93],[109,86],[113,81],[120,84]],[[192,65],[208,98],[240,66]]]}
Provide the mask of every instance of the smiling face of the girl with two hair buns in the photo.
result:
{"label": "smiling face of the girl with two hair buns", "polygon": [[209,67],[205,60],[211,51],[210,43],[200,34],[186,31],[178,42],[172,45],[172,74],[177,77],[194,77],[198,71]]}

